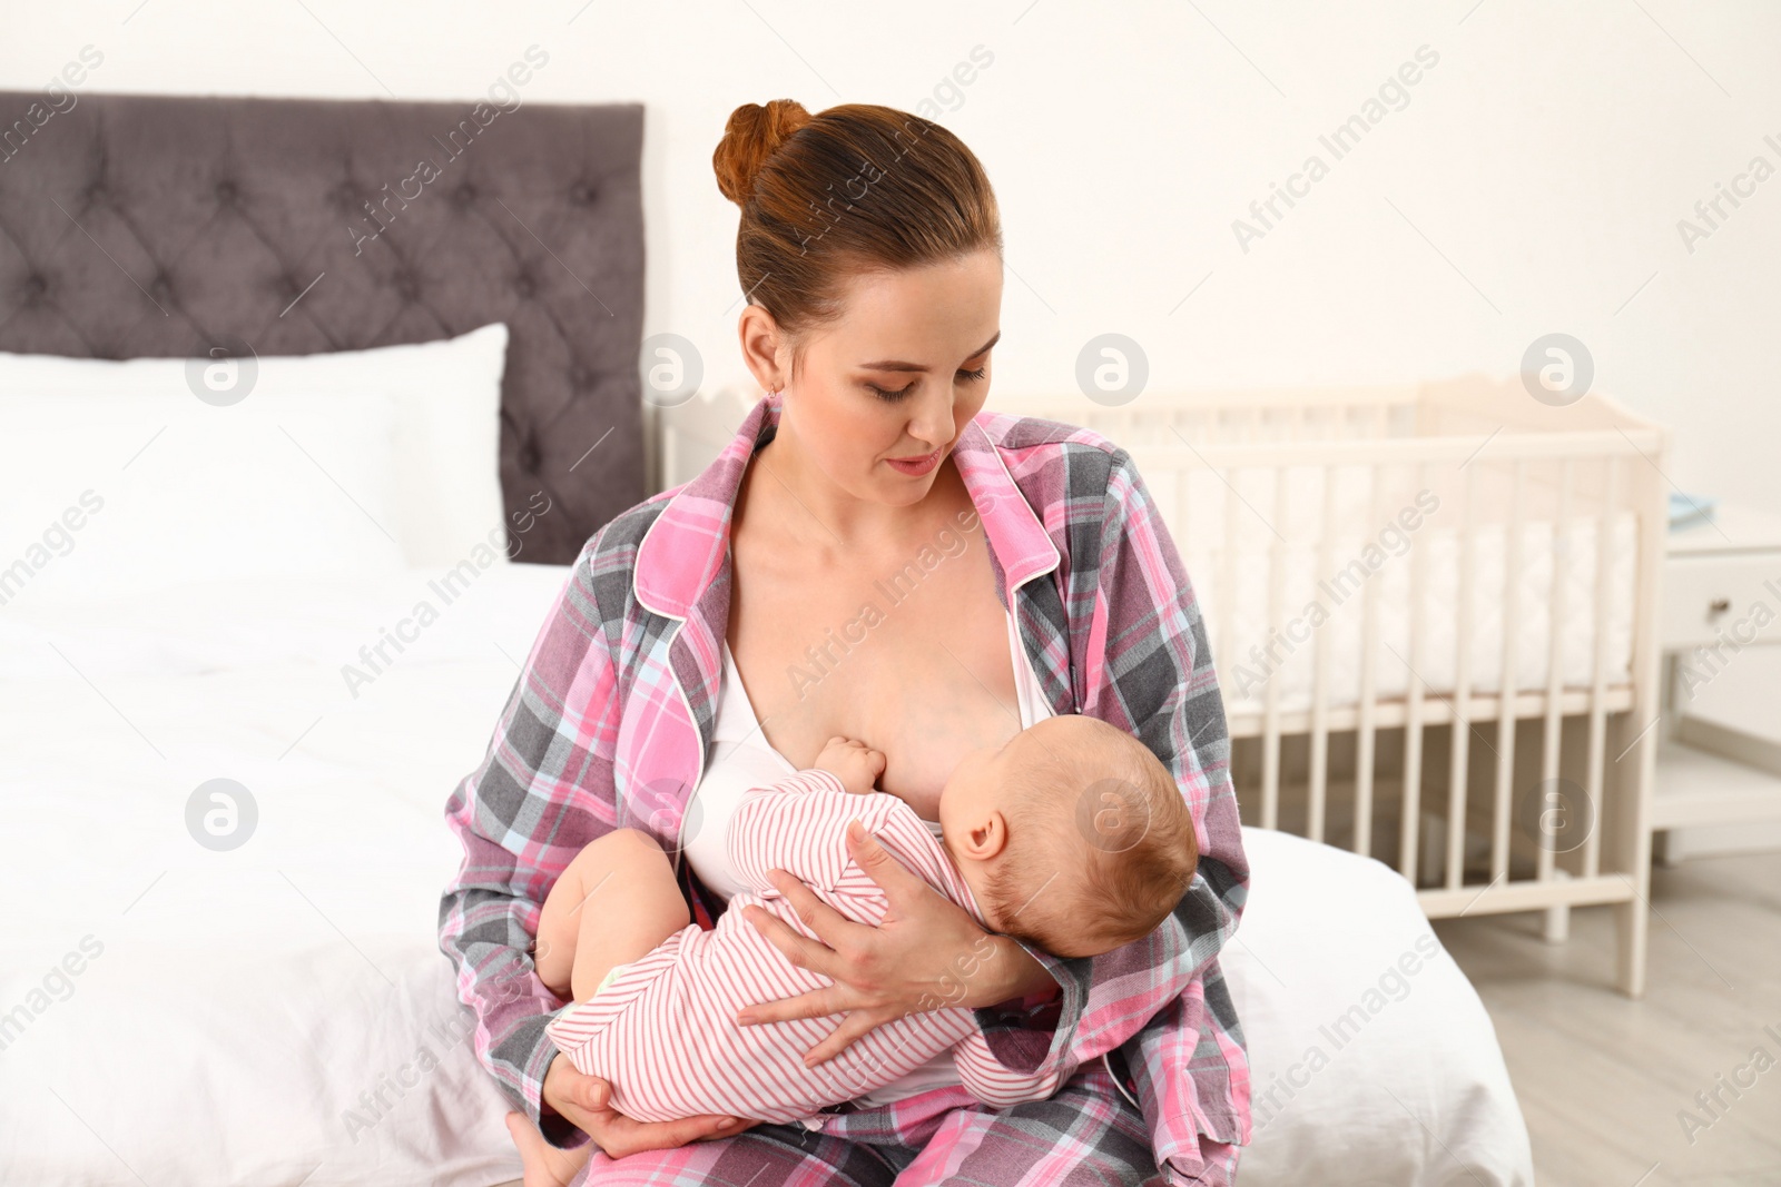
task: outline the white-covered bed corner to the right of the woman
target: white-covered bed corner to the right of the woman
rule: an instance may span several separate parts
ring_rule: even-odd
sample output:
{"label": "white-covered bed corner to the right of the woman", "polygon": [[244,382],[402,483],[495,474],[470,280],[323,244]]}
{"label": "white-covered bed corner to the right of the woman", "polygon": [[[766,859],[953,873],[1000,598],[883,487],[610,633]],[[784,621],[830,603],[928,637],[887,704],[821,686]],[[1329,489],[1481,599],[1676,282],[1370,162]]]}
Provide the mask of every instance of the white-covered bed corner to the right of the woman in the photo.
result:
{"label": "white-covered bed corner to the right of the woman", "polygon": [[1389,867],[1245,828],[1220,965],[1250,1057],[1243,1187],[1533,1183],[1496,1029]]}

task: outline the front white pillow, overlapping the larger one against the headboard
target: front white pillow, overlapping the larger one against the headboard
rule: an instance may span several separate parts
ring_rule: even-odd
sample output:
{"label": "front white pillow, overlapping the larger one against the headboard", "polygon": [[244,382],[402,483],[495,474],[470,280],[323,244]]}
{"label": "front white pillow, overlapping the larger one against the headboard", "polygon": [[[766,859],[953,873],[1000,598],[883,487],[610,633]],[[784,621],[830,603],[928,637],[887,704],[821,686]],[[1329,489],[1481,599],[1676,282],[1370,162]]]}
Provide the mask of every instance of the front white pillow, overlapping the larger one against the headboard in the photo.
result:
{"label": "front white pillow, overlapping the larger one against the headboard", "polygon": [[121,388],[0,379],[0,603],[403,566],[385,392]]}

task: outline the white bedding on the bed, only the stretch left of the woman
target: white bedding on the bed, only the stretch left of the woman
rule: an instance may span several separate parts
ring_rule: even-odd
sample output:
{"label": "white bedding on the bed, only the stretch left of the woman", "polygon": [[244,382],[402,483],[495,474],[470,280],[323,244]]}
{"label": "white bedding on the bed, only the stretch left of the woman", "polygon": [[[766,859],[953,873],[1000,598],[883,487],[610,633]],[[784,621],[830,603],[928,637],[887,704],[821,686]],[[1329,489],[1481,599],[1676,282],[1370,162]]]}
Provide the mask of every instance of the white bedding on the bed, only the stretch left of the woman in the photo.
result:
{"label": "white bedding on the bed, only the stretch left of the woman", "polygon": [[[0,1011],[102,945],[0,1036],[0,1182],[518,1176],[435,940],[443,806],[566,575],[492,566],[449,605],[417,571],[0,610]],[[354,698],[342,666],[422,600],[438,619]],[[185,824],[214,778],[258,808],[226,852]]]}

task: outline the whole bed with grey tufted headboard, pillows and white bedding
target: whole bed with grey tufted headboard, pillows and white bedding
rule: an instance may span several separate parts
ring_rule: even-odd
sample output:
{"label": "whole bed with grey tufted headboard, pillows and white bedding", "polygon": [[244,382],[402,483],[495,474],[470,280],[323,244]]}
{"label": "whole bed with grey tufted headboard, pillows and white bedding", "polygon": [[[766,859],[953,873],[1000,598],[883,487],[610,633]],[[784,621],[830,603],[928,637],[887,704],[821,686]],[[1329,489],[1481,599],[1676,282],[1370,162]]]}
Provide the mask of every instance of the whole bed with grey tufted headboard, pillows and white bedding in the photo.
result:
{"label": "whole bed with grey tufted headboard, pillows and white bedding", "polygon": [[[9,166],[0,1180],[518,1175],[436,947],[443,801],[639,493],[641,112],[502,112],[379,237],[403,267],[356,262],[342,178],[463,116],[85,96]],[[1409,886],[1248,845],[1245,1182],[1532,1182]]]}

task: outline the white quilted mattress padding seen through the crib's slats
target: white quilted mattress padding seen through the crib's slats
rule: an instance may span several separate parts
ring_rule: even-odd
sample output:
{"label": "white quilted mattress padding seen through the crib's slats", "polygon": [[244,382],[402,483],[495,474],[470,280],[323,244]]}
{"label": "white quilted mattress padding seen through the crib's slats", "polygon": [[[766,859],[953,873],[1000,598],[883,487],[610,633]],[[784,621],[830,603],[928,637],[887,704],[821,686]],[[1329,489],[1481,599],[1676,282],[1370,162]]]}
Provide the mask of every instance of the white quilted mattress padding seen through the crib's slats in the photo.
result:
{"label": "white quilted mattress padding seen through the crib's slats", "polygon": [[[1633,603],[1639,523],[1630,513],[1606,520],[1608,589],[1603,680],[1631,680]],[[1567,541],[1555,545],[1551,521],[1523,523],[1519,566],[1505,589],[1510,527],[1475,529],[1469,580],[1469,621],[1460,619],[1462,536],[1427,525],[1416,534],[1341,534],[1327,553],[1314,539],[1275,545],[1250,534],[1234,550],[1188,534],[1183,564],[1200,602],[1218,657],[1218,683],[1232,714],[1259,712],[1270,685],[1281,712],[1309,708],[1323,648],[1327,705],[1355,705],[1362,690],[1366,600],[1373,598],[1373,687],[1382,701],[1402,699],[1412,680],[1427,696],[1459,687],[1459,662],[1469,664],[1475,694],[1503,685],[1503,632],[1510,635],[1510,678],[1516,690],[1544,690],[1551,673],[1553,632],[1558,634],[1558,676],[1571,689],[1594,683],[1596,568],[1601,520],[1571,520]],[[1398,543],[1405,541],[1405,543]],[[1279,564],[1277,618],[1268,596]],[[1412,607],[1412,573],[1423,566],[1421,596]],[[1227,571],[1229,566],[1229,571]],[[1557,569],[1562,593],[1553,596]],[[1231,603],[1229,607],[1225,603]],[[1229,612],[1227,612],[1229,609]],[[1411,650],[1412,610],[1419,618]],[[1225,632],[1231,639],[1225,641]],[[1412,674],[1414,669],[1414,674]]]}

